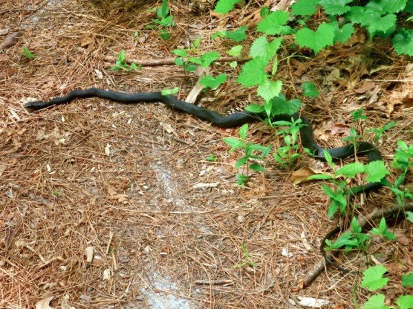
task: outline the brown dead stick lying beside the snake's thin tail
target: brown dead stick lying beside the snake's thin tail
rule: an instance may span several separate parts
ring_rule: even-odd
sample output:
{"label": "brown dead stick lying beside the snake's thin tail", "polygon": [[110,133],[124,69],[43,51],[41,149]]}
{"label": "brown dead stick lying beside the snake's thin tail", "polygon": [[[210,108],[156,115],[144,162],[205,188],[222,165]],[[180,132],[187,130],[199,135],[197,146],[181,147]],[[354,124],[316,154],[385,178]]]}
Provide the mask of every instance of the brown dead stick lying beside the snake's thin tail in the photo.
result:
{"label": "brown dead stick lying beside the snake's thin tail", "polygon": [[[388,207],[385,210],[382,209],[374,209],[368,216],[361,216],[357,222],[359,222],[359,225],[363,228],[364,225],[367,224],[367,222],[371,220],[377,220],[379,218],[386,218],[388,216],[391,216],[392,214],[396,214],[399,211],[412,211],[413,210],[413,203],[409,203],[402,209],[399,205],[392,205],[391,207]],[[349,228],[347,231],[350,231],[351,229]],[[299,282],[299,288],[306,288],[309,286],[316,278],[317,276],[321,273],[321,271],[326,268],[326,260],[324,258],[321,258],[318,260],[314,266],[311,268],[310,271],[308,271],[307,275],[300,280]]]}

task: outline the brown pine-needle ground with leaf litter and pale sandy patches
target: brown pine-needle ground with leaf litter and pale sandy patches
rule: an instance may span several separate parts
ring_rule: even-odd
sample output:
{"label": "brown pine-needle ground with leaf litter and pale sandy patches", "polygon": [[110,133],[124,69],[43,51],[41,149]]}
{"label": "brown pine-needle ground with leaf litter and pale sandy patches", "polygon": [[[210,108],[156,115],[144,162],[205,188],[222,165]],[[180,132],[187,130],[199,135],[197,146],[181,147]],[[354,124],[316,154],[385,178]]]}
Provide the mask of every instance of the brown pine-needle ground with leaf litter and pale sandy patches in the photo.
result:
{"label": "brown pine-needle ground with leaf litter and pale sandy patches", "polygon": [[[322,299],[323,308],[363,304],[369,294],[354,286],[360,276],[335,268],[299,288],[336,223],[326,216],[320,183],[294,185],[290,174],[328,170],[326,163],[303,155],[282,171],[268,160],[271,172],[253,174],[242,189],[234,185],[240,153],[229,155],[222,142],[236,137],[236,128],[162,104],[96,98],[25,110],[30,98],[88,87],[180,87],[184,100],[198,80],[193,74],[175,65],[110,71],[107,57],[125,50],[127,58],[172,58],[173,49],[200,36],[201,52],[225,55],[233,43],[211,34],[239,27],[264,1],[228,16],[211,15],[204,1],[169,1],[177,26],[167,41],[147,27],[149,10],[160,2],[0,0],[0,308],[302,308],[300,297]],[[23,46],[34,60],[22,55]],[[379,141],[390,165],[396,141],[413,140],[412,83],[403,82],[413,79],[413,66],[377,46],[359,32],[308,62],[280,62],[277,74],[290,96],[302,98],[302,82],[317,84],[321,95],[302,112],[324,146],[342,145],[352,126],[371,141],[368,128],[396,121]],[[202,93],[202,106],[226,113],[258,100],[235,82],[239,67],[213,70],[228,73],[229,81]],[[358,108],[369,117],[363,124],[352,122]],[[251,124],[250,133],[256,143],[282,145],[264,124]],[[211,154],[217,161],[206,160]],[[386,189],[358,196],[356,214],[393,201]],[[389,276],[400,277],[413,268],[413,229],[403,220],[392,229],[399,241],[379,242],[369,254],[385,255]],[[248,262],[243,244],[255,267],[241,265]],[[340,262],[365,267],[363,253],[348,259]],[[405,290],[393,284],[385,293],[392,300]]]}

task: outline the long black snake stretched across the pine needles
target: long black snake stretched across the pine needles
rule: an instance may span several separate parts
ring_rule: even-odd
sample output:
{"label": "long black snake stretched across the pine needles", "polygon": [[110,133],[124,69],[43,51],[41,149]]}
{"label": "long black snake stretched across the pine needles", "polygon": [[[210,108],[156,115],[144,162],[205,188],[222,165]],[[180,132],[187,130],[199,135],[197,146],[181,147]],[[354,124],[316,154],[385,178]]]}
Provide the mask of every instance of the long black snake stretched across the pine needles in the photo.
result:
{"label": "long black snake stretched across the pine needles", "polygon": [[[221,128],[234,128],[242,124],[255,122],[260,119],[264,119],[264,113],[251,113],[248,111],[232,113],[230,115],[221,115],[215,111],[211,111],[207,108],[201,106],[187,103],[181,100],[178,100],[173,95],[162,95],[160,92],[152,93],[122,93],[118,91],[107,91],[98,88],[89,88],[84,90],[74,90],[67,93],[67,95],[62,97],[53,98],[50,101],[36,101],[28,102],[25,104],[25,108],[28,108],[32,111],[39,110],[41,108],[46,108],[53,105],[67,104],[72,100],[78,98],[101,98],[106,100],[112,100],[114,102],[119,102],[123,104],[136,104],[136,103],[151,103],[151,102],[162,102],[169,108],[180,111],[182,113],[187,113],[198,117],[199,119],[206,120],[211,122],[215,126]],[[313,128],[306,119],[306,117],[295,113],[294,115],[276,115],[273,117],[273,121],[286,120],[290,121],[291,118],[297,120],[301,119],[303,127],[300,128],[299,133],[301,137],[301,144],[304,148],[308,148],[317,159],[325,160],[324,158],[324,148],[317,144],[317,141],[314,139]],[[379,150],[373,145],[366,141],[358,142],[355,145],[354,149],[353,144],[348,144],[347,146],[337,147],[337,148],[328,148],[325,149],[330,153],[333,159],[339,160],[351,155],[367,155],[369,161],[376,161],[381,159],[381,154]],[[379,187],[381,183],[368,183],[366,185],[361,185],[358,187],[352,187],[350,189],[351,194],[356,194],[358,192],[367,192],[369,190]]]}

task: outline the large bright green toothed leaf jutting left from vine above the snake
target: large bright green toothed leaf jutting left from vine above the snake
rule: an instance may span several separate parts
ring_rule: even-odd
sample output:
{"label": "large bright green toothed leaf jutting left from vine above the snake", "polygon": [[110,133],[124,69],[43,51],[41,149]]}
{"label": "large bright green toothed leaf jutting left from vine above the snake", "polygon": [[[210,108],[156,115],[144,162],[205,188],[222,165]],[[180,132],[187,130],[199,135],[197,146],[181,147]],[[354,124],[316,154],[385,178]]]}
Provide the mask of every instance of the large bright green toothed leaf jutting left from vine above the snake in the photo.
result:
{"label": "large bright green toothed leaf jutting left from vine above the snake", "polygon": [[237,82],[244,87],[251,87],[257,84],[262,84],[267,74],[264,71],[267,65],[267,61],[262,57],[253,58],[242,66],[240,76],[237,78]]}

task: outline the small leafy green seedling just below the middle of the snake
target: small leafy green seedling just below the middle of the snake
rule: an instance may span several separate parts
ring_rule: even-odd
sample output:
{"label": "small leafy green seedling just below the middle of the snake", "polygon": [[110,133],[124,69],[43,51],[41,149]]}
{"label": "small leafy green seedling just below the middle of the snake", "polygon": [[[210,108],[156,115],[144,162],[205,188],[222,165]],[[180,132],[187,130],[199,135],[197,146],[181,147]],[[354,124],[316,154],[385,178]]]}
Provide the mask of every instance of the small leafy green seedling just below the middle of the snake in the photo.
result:
{"label": "small leafy green seedling just below the middle of the snake", "polygon": [[[240,148],[244,150],[244,157],[237,160],[235,163],[235,168],[241,168],[242,166],[246,165],[246,170],[248,173],[248,169],[251,169],[255,172],[265,172],[264,166],[262,164],[257,163],[257,160],[262,160],[271,152],[271,145],[264,147],[258,144],[253,144],[251,142],[246,141],[246,135],[248,133],[248,124],[244,124],[241,126],[238,135],[240,139],[235,137],[224,137],[222,141],[225,144],[231,146],[229,153],[234,152],[236,149]],[[260,155],[257,155],[260,153]],[[237,174],[237,182],[235,184],[244,186],[245,182],[248,180],[248,177],[245,175],[238,176]]]}

